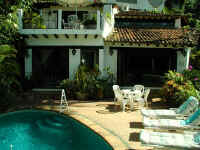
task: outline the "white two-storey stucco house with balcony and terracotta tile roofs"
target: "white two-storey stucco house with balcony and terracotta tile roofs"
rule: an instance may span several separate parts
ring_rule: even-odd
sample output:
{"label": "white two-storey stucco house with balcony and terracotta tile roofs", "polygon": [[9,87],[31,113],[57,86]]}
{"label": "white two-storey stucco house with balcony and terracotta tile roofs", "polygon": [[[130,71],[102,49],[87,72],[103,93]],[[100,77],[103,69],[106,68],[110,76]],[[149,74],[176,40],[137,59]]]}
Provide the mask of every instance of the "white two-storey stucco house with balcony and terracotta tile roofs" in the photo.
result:
{"label": "white two-storey stucco house with balcony and terracotta tile roofs", "polygon": [[183,16],[149,12],[163,7],[163,0],[36,0],[44,29],[27,25],[19,10],[29,54],[25,76],[34,76],[36,88],[48,88],[73,79],[81,62],[102,72],[109,66],[120,85],[181,72],[194,43],[181,29]]}

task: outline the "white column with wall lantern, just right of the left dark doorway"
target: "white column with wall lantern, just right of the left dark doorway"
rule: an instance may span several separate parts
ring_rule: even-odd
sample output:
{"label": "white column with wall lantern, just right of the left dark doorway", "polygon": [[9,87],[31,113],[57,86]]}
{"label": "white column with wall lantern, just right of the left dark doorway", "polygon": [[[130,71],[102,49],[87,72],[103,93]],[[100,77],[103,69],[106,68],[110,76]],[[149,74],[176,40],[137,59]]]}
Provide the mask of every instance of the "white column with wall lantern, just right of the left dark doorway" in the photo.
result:
{"label": "white column with wall lantern, just right of the left dark doorway", "polygon": [[[76,52],[73,54],[72,51]],[[74,74],[80,65],[81,53],[80,49],[69,49],[69,79],[74,79]]]}

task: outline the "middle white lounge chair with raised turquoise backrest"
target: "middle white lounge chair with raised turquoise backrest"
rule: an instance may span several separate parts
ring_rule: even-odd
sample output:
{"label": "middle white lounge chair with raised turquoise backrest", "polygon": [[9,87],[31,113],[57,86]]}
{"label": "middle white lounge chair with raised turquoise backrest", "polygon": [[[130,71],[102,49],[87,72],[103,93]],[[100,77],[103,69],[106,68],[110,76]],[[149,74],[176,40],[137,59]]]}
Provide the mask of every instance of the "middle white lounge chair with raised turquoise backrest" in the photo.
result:
{"label": "middle white lounge chair with raised turquoise backrest", "polygon": [[151,119],[143,118],[143,125],[149,129],[172,129],[172,130],[199,130],[200,129],[200,109],[186,119]]}

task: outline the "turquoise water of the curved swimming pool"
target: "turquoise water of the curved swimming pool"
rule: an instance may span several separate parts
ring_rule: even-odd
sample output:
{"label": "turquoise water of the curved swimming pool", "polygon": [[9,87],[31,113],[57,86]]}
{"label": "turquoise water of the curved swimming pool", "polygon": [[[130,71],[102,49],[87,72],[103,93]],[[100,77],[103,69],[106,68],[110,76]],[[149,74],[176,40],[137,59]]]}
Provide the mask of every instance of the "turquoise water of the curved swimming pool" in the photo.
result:
{"label": "turquoise water of the curved swimming pool", "polygon": [[0,150],[112,150],[91,129],[56,112],[23,110],[0,115]]}

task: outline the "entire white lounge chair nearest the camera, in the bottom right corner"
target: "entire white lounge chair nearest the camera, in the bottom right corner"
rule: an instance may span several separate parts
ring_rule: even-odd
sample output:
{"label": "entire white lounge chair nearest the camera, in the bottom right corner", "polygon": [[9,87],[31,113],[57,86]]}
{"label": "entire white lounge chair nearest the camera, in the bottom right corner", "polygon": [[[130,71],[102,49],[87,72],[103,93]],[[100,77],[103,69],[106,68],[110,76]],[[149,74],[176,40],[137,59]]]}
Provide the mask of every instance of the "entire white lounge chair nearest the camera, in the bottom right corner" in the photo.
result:
{"label": "entire white lounge chair nearest the camera, in the bottom right corner", "polygon": [[200,132],[167,133],[142,130],[140,141],[142,145],[159,149],[198,150],[200,149]]}

